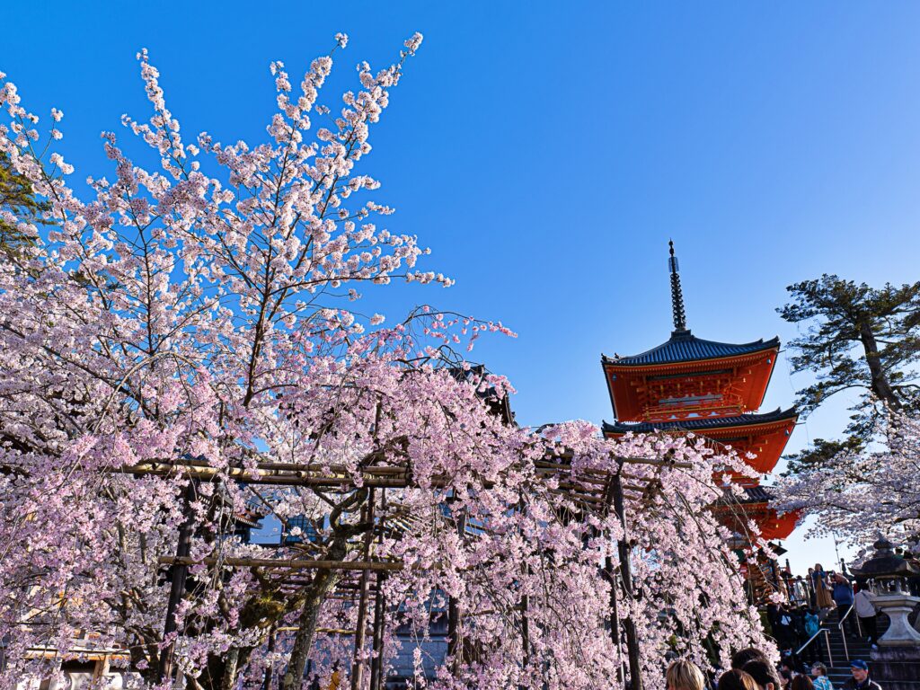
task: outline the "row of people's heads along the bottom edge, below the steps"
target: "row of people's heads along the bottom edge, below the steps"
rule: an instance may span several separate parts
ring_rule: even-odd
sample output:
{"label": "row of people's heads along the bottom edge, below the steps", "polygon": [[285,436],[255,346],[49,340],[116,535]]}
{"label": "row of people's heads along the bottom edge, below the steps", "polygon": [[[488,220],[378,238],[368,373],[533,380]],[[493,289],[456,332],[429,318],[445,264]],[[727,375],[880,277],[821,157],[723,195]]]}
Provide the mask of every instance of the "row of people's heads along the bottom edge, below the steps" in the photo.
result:
{"label": "row of people's heads along the bottom edge, below the steps", "polygon": [[[869,678],[868,663],[861,659],[850,661],[852,678],[843,690],[882,690]],[[811,666],[811,673],[797,673],[788,660],[778,665],[766,654],[753,647],[736,652],[731,657],[730,670],[721,673],[715,684],[707,684],[706,676],[692,661],[672,661],[665,673],[667,690],[835,690],[827,677],[827,668],[820,661]]]}

